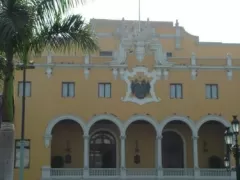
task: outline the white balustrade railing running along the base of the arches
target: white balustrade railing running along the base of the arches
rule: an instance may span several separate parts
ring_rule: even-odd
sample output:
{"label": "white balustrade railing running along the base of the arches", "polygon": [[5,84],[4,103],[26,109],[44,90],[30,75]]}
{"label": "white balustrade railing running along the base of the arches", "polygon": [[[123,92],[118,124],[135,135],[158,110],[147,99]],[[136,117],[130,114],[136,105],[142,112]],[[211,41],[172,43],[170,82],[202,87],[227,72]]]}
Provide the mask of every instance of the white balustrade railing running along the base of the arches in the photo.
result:
{"label": "white balustrade railing running along the base of the arches", "polygon": [[146,177],[146,178],[161,178],[161,179],[176,179],[176,178],[187,178],[187,179],[222,179],[222,180],[235,180],[235,172],[227,171],[226,169],[155,169],[155,168],[94,168],[84,170],[81,168],[42,168],[42,179],[51,178],[91,178],[91,177]]}

